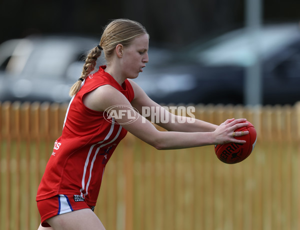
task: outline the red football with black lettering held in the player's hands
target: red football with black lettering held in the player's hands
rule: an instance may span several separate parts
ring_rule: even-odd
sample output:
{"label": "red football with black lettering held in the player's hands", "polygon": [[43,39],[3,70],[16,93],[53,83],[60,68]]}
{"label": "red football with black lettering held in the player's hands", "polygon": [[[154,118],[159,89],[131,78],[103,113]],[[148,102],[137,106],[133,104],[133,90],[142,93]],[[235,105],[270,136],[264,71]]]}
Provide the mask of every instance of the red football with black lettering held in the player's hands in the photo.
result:
{"label": "red football with black lettering held in the player's hands", "polygon": [[249,131],[247,135],[235,137],[235,139],[245,140],[246,143],[239,144],[230,142],[214,146],[214,152],[220,161],[226,164],[235,164],[243,161],[250,155],[256,144],[256,130],[250,122],[247,121],[247,123],[249,123],[248,126],[235,130],[235,132]]}

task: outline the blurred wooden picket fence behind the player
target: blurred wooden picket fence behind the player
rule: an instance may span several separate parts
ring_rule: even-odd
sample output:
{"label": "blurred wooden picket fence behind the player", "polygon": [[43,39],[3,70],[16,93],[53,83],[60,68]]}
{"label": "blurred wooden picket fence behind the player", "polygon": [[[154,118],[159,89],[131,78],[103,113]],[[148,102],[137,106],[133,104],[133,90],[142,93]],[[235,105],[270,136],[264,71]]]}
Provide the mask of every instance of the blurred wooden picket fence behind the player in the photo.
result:
{"label": "blurred wooden picket fence behind the player", "polygon": [[[67,105],[0,104],[0,229],[34,230],[35,195]],[[300,105],[197,105],[220,124],[247,118],[258,140],[226,165],[213,146],[157,151],[128,134],[107,164],[95,208],[106,230],[300,229]]]}

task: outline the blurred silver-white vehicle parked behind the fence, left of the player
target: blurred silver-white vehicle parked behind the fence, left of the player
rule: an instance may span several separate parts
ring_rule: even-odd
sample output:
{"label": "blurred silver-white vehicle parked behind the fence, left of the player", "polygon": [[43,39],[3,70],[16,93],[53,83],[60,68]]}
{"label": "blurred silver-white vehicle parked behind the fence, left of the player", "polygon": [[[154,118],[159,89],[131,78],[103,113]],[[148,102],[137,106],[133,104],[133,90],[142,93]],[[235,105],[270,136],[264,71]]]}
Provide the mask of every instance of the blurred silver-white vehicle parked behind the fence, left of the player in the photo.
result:
{"label": "blurred silver-white vehicle parked behind the fence, left of the player", "polygon": [[85,53],[98,40],[80,36],[29,36],[0,45],[0,101],[68,102]]}

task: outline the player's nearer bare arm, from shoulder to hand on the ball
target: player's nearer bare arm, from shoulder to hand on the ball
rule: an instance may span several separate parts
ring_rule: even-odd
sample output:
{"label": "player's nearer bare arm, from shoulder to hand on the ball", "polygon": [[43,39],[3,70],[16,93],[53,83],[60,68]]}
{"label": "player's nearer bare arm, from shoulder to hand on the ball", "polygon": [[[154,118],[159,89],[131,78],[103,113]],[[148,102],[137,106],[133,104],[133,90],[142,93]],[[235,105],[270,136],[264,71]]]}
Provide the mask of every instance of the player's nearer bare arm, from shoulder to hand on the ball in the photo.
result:
{"label": "player's nearer bare arm, from shoulder to hand on the ball", "polygon": [[[93,110],[104,111],[115,106],[131,107],[127,98],[110,85],[103,85],[85,96],[84,104]],[[115,107],[115,113],[120,114],[121,108]],[[245,119],[227,120],[213,132],[164,132],[158,131],[149,121],[138,116],[130,123],[129,116],[120,116],[115,120],[134,136],[155,147],[156,149],[180,149],[204,145],[223,144],[226,142],[244,143],[232,137],[235,129],[246,126]],[[247,134],[247,132],[244,132]],[[236,136],[241,134],[236,133]]]}

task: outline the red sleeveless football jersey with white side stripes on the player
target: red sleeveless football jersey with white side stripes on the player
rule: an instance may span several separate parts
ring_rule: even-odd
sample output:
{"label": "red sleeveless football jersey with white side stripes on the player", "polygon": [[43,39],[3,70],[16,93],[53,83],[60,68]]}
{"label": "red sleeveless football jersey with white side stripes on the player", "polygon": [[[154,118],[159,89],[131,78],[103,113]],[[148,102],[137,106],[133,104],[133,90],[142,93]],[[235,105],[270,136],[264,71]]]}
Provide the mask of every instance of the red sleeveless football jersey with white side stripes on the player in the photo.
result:
{"label": "red sleeveless football jersey with white side stripes on the player", "polygon": [[105,120],[105,112],[84,106],[82,97],[101,85],[116,88],[129,102],[134,97],[127,79],[120,86],[104,69],[105,66],[100,66],[99,71],[86,77],[71,99],[62,134],[54,143],[36,201],[64,194],[79,195],[89,206],[96,204],[105,165],[127,131],[116,122]]}

